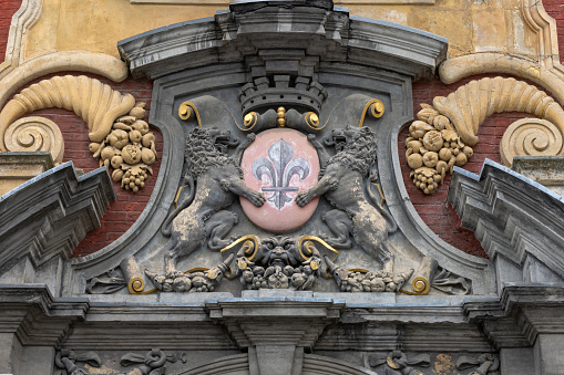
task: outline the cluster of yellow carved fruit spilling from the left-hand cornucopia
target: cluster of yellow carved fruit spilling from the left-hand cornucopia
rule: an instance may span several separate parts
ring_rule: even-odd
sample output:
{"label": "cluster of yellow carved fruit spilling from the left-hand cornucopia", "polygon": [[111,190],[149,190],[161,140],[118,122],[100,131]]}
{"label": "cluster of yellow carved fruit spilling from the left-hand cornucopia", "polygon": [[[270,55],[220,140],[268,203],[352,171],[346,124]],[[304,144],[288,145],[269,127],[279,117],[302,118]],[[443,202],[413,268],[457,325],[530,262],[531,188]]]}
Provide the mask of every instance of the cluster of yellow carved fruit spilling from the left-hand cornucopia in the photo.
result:
{"label": "cluster of yellow carved fruit spilling from the left-hand cornucopia", "polygon": [[114,169],[112,179],[122,188],[137,192],[145,186],[150,167],[156,162],[155,135],[148,131],[145,103],[137,103],[126,116],[117,118],[111,133],[102,143],[91,143],[89,148],[100,166]]}

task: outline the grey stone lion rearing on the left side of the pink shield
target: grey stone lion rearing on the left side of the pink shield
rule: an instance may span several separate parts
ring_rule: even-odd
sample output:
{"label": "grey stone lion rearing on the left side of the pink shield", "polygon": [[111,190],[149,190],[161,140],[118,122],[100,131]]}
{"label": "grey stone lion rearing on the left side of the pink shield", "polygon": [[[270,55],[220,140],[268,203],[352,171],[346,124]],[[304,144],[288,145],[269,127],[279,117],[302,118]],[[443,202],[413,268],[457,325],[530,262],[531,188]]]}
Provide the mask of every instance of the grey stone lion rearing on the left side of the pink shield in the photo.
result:
{"label": "grey stone lion rearing on the left side of the pink shield", "polygon": [[[172,237],[165,254],[166,278],[181,275],[176,270],[178,260],[199,249],[207,239],[212,250],[228,244],[225,238],[237,223],[237,216],[222,209],[230,206],[236,196],[247,198],[257,207],[265,202],[263,194],[245,186],[236,162],[217,149],[216,142],[222,138],[228,140],[229,136],[204,128],[195,128],[186,136],[185,181],[191,196],[168,217],[162,229],[164,235]],[[253,139],[248,137],[239,148],[248,146]]]}

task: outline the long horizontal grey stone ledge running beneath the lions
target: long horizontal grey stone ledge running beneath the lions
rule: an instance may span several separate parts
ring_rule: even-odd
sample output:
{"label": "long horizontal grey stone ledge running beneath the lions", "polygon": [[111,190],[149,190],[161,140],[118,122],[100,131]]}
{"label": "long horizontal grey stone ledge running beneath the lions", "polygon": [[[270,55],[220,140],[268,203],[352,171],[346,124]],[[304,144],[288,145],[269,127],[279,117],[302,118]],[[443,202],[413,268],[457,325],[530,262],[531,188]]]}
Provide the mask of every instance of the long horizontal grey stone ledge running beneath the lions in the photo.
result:
{"label": "long horizontal grey stone ledge running beneath the lions", "polygon": [[[564,332],[564,325],[554,319],[562,313],[558,304],[564,301],[563,285],[506,283],[499,296],[451,303],[420,301],[418,306],[428,308],[424,313],[413,311],[413,302],[396,306],[398,312],[412,311],[413,316],[425,316],[424,324],[403,320],[401,313],[390,313],[388,303],[359,305],[325,298],[247,296],[196,303],[116,303],[86,298],[53,298],[41,284],[1,284],[0,302],[2,314],[10,313],[13,317],[10,324],[8,321],[2,323],[2,332],[17,336],[23,347],[58,345],[76,352],[115,353],[144,352],[150,345],[166,353],[177,347],[215,351],[207,362],[176,364],[176,373],[193,375],[234,368],[263,374],[269,363],[280,363],[278,360],[289,361],[293,364],[290,371],[286,372],[281,365],[273,369],[270,365],[269,374],[309,374],[319,366],[331,374],[373,374],[371,365],[359,366],[339,353],[351,350],[365,355],[387,353],[400,345],[408,356],[421,352],[447,353],[453,347],[457,352],[476,355],[491,353],[492,347],[501,352],[530,350],[537,337],[555,338]],[[208,293],[208,296],[213,295]],[[454,308],[453,316],[458,316],[458,323],[443,314]],[[373,321],[373,314],[379,314],[382,320]],[[33,329],[31,322],[34,322]],[[181,322],[182,326],[178,326]],[[300,332],[317,330],[317,324],[308,326],[306,322],[325,322],[319,327],[319,333],[324,332],[320,341],[317,341],[319,333],[299,336]],[[245,333],[252,333],[242,341],[237,338],[243,337],[237,333],[242,332],[237,331],[240,327],[246,330]],[[143,334],[132,341],[132,334],[137,330]],[[281,334],[281,341],[274,334],[276,331]],[[298,336],[309,338],[300,342]],[[343,341],[345,337],[349,341]],[[316,354],[297,350],[300,345],[311,347]],[[248,354],[235,354],[243,347],[248,347]],[[273,352],[269,347],[276,350]],[[225,354],[222,356],[222,353]],[[273,353],[277,360],[266,361]],[[49,362],[49,358],[43,360]],[[501,368],[504,365],[507,364],[502,361]]]}

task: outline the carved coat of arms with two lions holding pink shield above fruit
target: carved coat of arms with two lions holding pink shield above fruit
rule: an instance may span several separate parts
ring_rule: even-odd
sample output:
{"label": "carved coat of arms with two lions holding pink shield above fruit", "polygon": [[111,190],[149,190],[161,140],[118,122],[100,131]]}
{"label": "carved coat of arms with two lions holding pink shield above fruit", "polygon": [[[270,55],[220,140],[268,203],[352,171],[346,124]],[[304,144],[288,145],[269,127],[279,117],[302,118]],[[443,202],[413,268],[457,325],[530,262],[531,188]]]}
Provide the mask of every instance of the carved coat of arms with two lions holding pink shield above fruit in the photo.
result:
{"label": "carved coat of arms with two lions holding pink shield above fruit", "polygon": [[[201,113],[191,104],[191,111]],[[156,290],[212,292],[222,279],[238,278],[245,289],[299,291],[315,289],[324,275],[332,278],[342,292],[429,293],[438,274],[434,260],[422,258],[420,264],[407,269],[394,264],[397,257],[403,257],[389,240],[398,226],[370,186],[378,180],[376,133],[366,126],[332,127],[330,135],[319,140],[314,134],[306,136],[284,127],[287,113],[279,107],[283,116],[270,123],[274,128],[248,134],[243,140],[215,126],[188,131],[183,186],[161,229],[171,238],[163,248],[165,270],[163,274],[145,270],[155,289],[132,289],[139,278],[134,278],[137,271],[131,270],[139,268],[131,259],[121,264],[123,279],[109,273],[91,280],[89,290],[106,293],[129,284],[130,292],[141,294]],[[205,124],[201,117],[198,124]],[[228,148],[235,146],[229,155]],[[238,213],[234,207],[237,196]],[[317,221],[311,217],[321,196],[327,202]],[[256,235],[256,229],[245,236],[234,235],[244,217],[243,228],[256,226],[264,235]],[[310,220],[316,223],[308,226]],[[326,231],[319,230],[321,226]],[[351,248],[368,256],[375,270],[336,263],[337,249]],[[203,249],[219,251],[223,262],[212,269],[178,270],[180,262]],[[451,284],[449,275],[443,279],[438,280]],[[406,291],[410,280],[412,290]],[[471,291],[465,283],[462,289],[437,291],[465,294]]]}

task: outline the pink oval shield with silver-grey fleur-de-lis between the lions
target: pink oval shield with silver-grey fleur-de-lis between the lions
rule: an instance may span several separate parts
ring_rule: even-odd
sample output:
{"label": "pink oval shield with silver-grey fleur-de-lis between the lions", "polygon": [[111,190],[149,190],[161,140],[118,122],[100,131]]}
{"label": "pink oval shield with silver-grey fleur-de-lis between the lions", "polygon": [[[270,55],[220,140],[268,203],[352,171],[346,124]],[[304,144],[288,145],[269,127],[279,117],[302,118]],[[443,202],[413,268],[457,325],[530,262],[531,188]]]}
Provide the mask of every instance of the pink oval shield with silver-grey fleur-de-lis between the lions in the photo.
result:
{"label": "pink oval shield with silver-grey fleur-de-lis between the lions", "polygon": [[289,128],[265,131],[243,154],[245,184],[265,195],[263,207],[240,197],[243,211],[258,227],[286,232],[302,226],[314,215],[319,198],[305,207],[294,200],[317,184],[319,158],[307,136]]}

